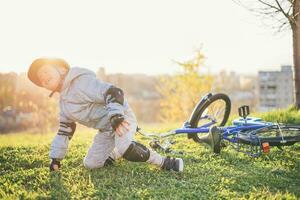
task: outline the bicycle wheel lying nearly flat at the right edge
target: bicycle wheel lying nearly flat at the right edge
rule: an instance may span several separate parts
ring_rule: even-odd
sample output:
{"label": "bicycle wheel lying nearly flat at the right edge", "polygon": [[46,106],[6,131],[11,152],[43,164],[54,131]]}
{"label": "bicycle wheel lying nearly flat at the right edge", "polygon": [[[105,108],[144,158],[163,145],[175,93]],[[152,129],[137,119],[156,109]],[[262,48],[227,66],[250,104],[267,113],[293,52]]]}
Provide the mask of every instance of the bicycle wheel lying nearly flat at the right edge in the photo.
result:
{"label": "bicycle wheel lying nearly flat at the right edge", "polygon": [[279,124],[266,128],[244,131],[239,133],[238,142],[248,145],[261,146],[268,143],[269,146],[290,146],[300,142],[300,126]]}

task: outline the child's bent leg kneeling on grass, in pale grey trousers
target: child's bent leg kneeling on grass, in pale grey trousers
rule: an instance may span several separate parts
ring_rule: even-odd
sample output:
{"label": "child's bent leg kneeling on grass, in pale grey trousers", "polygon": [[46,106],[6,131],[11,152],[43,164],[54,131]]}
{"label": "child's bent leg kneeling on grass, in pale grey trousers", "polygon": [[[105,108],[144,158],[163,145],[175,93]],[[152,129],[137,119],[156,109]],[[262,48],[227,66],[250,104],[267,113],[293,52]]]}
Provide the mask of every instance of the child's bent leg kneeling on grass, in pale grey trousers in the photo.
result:
{"label": "child's bent leg kneeling on grass, in pale grey trousers", "polygon": [[86,168],[102,167],[115,147],[114,135],[111,131],[99,132],[95,135],[93,144],[83,160]]}

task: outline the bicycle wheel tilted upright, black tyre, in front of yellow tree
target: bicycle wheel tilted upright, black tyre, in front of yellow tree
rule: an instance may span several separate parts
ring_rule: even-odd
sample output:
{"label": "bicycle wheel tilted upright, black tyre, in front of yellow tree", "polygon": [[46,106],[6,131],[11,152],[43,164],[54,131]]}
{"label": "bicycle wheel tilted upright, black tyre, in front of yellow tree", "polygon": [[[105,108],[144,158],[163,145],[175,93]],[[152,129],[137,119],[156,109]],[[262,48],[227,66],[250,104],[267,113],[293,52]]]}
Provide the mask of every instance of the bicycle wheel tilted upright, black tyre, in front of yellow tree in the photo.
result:
{"label": "bicycle wheel tilted upright, black tyre, in front of yellow tree", "polygon": [[[197,104],[190,118],[192,128],[201,127],[214,121],[215,126],[224,126],[231,110],[231,101],[226,94],[214,94],[203,104]],[[201,134],[201,133],[200,133]],[[198,134],[189,134],[195,142],[202,143]]]}

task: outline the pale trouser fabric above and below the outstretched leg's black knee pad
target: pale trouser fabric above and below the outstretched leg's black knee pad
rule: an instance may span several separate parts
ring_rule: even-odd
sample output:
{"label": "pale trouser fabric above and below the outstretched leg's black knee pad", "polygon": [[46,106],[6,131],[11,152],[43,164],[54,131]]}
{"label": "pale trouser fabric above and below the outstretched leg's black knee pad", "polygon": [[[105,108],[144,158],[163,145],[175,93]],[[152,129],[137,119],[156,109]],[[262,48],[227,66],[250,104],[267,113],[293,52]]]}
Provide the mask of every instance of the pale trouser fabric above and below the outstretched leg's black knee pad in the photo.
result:
{"label": "pale trouser fabric above and below the outstretched leg's black knee pad", "polygon": [[[122,136],[118,136],[117,134],[115,134],[116,148],[114,149],[114,152],[111,154],[111,156],[119,155],[116,156],[116,158],[121,157],[121,155],[124,155],[124,153],[128,150],[130,145],[132,145],[132,142],[135,141],[134,135],[136,133],[136,128],[137,128],[136,118],[131,109],[125,112],[125,114],[126,114],[126,120],[130,123],[130,128],[129,131]],[[149,155],[149,159],[147,159],[146,162],[161,167],[163,164],[164,157],[150,149],[148,149],[148,151],[150,155]]]}

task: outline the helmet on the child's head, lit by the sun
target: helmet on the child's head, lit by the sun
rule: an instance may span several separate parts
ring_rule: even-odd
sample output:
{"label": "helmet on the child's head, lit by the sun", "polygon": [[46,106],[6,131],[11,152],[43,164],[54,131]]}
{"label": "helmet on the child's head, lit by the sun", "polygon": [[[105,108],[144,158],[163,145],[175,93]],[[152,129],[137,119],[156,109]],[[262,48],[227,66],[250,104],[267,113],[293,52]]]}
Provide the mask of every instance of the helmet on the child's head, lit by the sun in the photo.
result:
{"label": "helmet on the child's head, lit by the sun", "polygon": [[65,60],[60,58],[38,58],[34,60],[28,69],[27,76],[34,84],[40,87],[42,87],[42,83],[40,82],[37,73],[39,69],[45,64],[61,66],[67,69],[67,71],[70,68],[69,64]]}

